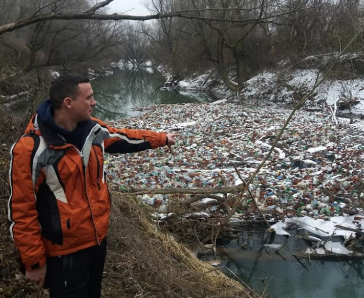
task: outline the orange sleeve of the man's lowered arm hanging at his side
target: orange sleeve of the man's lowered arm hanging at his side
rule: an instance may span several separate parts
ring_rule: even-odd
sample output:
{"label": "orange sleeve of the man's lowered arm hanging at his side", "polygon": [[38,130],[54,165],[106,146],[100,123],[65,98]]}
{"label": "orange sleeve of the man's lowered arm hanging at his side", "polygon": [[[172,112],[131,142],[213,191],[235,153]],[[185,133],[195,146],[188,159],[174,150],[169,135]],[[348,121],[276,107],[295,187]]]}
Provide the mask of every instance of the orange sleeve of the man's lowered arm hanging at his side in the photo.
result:
{"label": "orange sleeve of the man's lowered arm hanging at his side", "polygon": [[46,261],[32,182],[33,147],[34,140],[31,137],[22,137],[15,143],[10,152],[9,169],[10,234],[20,251],[21,261],[27,271],[43,266]]}

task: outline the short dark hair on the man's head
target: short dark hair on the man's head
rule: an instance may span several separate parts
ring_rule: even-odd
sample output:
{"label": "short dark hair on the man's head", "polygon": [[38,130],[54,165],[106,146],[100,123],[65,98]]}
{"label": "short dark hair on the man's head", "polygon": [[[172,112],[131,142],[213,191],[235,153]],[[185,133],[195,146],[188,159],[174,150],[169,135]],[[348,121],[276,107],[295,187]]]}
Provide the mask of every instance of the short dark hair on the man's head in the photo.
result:
{"label": "short dark hair on the man's head", "polygon": [[78,93],[78,84],[89,82],[89,78],[78,74],[64,74],[55,79],[49,90],[49,97],[53,109],[60,109],[64,98],[75,98]]}

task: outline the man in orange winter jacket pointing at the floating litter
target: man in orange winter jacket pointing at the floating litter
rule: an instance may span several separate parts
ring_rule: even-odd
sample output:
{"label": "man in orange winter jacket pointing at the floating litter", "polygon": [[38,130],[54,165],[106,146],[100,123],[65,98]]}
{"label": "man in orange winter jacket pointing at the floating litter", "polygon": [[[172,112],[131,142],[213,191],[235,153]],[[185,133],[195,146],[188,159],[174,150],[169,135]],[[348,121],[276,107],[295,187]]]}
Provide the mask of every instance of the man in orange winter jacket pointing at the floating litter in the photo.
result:
{"label": "man in orange winter jacket pointing at the floating litter", "polygon": [[11,149],[8,216],[25,277],[52,298],[100,297],[110,198],[104,152],[171,146],[177,134],[115,129],[92,118],[86,77],[64,75],[50,88]]}

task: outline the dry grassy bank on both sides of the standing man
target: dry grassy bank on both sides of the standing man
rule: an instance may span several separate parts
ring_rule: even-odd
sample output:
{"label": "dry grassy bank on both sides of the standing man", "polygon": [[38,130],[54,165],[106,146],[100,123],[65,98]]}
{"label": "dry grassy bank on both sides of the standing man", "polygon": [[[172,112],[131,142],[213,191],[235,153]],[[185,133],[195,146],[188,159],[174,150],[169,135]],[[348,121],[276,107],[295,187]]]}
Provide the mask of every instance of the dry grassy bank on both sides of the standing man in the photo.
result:
{"label": "dry grassy bank on both sides of the standing man", "polygon": [[[0,121],[0,298],[45,298],[47,291],[26,282],[7,223],[7,175],[11,144],[24,123],[12,116]],[[249,298],[258,297],[222,274],[152,221],[148,206],[112,191],[112,214],[103,282],[107,298]],[[192,223],[190,223],[192,224]],[[189,224],[189,225],[190,225]],[[177,225],[175,225],[177,226]],[[178,229],[175,230],[178,232]],[[185,229],[181,229],[185,231]],[[180,238],[177,235],[177,238]],[[192,237],[193,238],[193,237]]]}

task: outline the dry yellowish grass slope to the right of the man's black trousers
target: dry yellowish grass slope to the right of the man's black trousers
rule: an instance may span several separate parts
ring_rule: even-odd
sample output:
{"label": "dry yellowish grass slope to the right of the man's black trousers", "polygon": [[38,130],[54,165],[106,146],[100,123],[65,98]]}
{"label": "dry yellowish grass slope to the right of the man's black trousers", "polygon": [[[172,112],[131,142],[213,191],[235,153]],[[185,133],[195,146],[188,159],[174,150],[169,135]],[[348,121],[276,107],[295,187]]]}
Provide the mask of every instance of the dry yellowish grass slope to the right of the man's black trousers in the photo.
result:
{"label": "dry yellowish grass slope to the right of the man's black trousers", "polygon": [[257,297],[158,229],[135,197],[112,198],[104,297]]}

